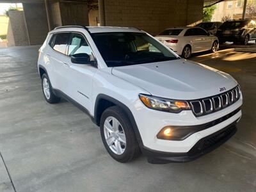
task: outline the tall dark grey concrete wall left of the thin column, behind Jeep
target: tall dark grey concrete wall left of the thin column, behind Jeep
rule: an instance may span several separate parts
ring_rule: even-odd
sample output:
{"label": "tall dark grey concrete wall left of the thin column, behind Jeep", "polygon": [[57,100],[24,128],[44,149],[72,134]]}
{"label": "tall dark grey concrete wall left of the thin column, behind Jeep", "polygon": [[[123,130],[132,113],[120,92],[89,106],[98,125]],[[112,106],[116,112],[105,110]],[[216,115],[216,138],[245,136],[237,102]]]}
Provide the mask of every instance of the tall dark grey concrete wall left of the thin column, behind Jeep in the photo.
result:
{"label": "tall dark grey concrete wall left of the thin column, behind Jeep", "polygon": [[23,3],[30,45],[40,45],[49,31],[44,3]]}

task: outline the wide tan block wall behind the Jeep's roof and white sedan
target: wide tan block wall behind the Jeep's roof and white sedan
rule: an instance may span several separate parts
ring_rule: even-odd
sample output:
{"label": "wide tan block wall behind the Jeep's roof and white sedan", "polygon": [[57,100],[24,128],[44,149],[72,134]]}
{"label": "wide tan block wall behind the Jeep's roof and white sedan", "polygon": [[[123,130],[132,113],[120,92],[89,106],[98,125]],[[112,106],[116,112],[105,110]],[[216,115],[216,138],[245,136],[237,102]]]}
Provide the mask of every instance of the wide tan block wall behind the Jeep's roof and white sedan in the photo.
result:
{"label": "wide tan block wall behind the Jeep's roof and white sedan", "polygon": [[136,27],[156,35],[202,20],[204,0],[105,0],[106,26]]}

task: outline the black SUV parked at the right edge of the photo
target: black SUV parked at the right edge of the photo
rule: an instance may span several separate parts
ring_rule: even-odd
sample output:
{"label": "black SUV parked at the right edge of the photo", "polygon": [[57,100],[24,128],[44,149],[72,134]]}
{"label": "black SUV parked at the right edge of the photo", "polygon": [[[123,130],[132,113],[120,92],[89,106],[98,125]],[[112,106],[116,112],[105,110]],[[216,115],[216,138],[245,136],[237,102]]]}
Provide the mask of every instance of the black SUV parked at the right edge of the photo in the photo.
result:
{"label": "black SUV parked at the right edge of the photo", "polygon": [[256,22],[255,20],[228,20],[218,29],[220,44],[224,42],[242,43],[247,45],[250,40],[256,40]]}

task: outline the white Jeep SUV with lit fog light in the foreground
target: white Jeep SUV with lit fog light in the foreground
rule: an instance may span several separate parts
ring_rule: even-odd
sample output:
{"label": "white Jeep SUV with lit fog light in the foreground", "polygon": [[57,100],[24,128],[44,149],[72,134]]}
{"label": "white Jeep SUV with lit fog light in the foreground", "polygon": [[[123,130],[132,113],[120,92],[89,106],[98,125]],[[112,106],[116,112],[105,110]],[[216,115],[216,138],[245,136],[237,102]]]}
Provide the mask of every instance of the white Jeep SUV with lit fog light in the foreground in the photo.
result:
{"label": "white Jeep SUV with lit fog light in the foreground", "polygon": [[237,81],[135,28],[56,28],[38,72],[47,102],[62,97],[88,113],[123,163],[140,152],[149,163],[196,159],[227,141],[241,118]]}

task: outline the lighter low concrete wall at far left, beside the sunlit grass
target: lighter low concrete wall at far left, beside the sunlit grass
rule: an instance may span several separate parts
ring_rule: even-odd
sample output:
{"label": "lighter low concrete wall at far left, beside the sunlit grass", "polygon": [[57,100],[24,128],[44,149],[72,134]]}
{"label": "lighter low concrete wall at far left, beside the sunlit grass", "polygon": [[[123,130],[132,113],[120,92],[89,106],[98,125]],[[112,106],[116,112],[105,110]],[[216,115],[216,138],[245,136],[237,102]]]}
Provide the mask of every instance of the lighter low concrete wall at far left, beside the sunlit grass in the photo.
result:
{"label": "lighter low concrete wall at far left, beside the sunlit grass", "polygon": [[29,45],[24,13],[16,10],[9,11],[9,19],[7,46]]}

